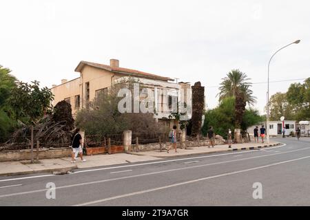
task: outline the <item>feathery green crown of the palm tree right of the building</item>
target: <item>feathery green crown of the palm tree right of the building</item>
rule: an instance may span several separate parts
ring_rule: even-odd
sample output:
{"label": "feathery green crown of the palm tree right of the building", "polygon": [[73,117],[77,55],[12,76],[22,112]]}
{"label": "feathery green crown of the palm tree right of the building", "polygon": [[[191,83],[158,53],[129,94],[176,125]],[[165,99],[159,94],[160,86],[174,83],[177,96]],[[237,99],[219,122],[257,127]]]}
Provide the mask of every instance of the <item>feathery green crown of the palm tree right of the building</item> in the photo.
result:
{"label": "feathery green crown of the palm tree right of the building", "polygon": [[249,89],[251,83],[247,82],[247,80],[250,80],[250,78],[247,78],[247,74],[240,72],[239,69],[231,70],[227,77],[223,78],[223,82],[220,83],[219,100],[231,96],[236,98],[239,96],[238,94],[242,94],[245,102],[253,105],[256,102],[256,97],[253,96],[253,91]]}

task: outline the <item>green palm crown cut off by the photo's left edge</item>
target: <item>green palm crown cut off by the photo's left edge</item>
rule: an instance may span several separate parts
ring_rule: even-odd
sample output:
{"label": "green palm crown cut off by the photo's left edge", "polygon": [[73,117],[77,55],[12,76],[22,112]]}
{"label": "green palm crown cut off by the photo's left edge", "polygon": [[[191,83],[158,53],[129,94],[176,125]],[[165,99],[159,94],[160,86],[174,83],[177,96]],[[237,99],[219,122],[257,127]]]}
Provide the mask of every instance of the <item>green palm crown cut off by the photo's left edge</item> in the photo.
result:
{"label": "green palm crown cut off by the photo's left edge", "polygon": [[10,72],[10,69],[0,65],[0,106],[10,96],[11,89],[15,87],[17,79]]}

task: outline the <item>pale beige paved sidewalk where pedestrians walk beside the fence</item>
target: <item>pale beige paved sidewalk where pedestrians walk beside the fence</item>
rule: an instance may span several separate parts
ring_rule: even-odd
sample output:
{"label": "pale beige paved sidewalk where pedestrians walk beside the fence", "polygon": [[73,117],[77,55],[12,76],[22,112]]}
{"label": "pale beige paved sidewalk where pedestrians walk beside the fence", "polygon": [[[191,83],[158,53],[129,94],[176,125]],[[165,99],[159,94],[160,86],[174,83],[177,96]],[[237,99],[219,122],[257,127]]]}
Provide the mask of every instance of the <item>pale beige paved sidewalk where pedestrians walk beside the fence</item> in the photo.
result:
{"label": "pale beige paved sidewalk where pedestrians walk beside the fence", "polygon": [[[269,146],[280,145],[278,142],[270,142]],[[71,163],[71,157],[57,159],[40,159],[39,164],[30,164],[29,161],[21,162],[0,162],[0,176],[24,175],[30,173],[53,173],[65,174],[76,168],[94,168],[98,166],[111,166],[116,164],[128,164],[133,162],[146,162],[159,158],[182,157],[186,155],[200,155],[206,153],[220,153],[227,151],[254,150],[267,147],[267,144],[233,144],[232,148],[228,145],[216,145],[214,148],[207,146],[192,147],[187,149],[178,148],[178,153],[174,149],[169,151],[143,151],[138,153],[116,153],[112,155],[92,155],[83,156],[87,161],[81,162],[77,158],[76,163]]]}

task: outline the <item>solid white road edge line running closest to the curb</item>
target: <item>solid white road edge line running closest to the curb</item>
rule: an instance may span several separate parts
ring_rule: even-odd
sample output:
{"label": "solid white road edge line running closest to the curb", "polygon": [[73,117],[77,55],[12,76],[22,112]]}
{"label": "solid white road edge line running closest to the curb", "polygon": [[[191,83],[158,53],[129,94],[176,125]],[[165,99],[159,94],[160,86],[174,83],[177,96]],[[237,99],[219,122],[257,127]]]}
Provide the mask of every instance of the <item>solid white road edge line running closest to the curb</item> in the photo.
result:
{"label": "solid white road edge line running closest to the curb", "polygon": [[[272,146],[269,147],[269,149],[272,148],[279,148],[282,146],[286,146],[287,144],[283,144],[280,146]],[[225,156],[225,155],[234,155],[234,154],[239,154],[239,153],[252,153],[252,151],[242,151],[242,152],[235,152],[235,153],[221,153],[221,154],[216,154],[216,155],[206,155],[206,156],[199,156],[199,157],[187,157],[187,158],[181,158],[181,159],[169,159],[165,161],[158,161],[158,162],[147,162],[143,164],[132,164],[132,165],[125,165],[125,166],[112,166],[112,167],[106,167],[106,168],[96,168],[96,169],[90,169],[90,170],[81,170],[81,171],[76,171],[72,174],[78,174],[78,173],[86,173],[86,172],[94,172],[98,170],[110,170],[110,169],[116,169],[116,168],[124,168],[124,167],[130,167],[130,166],[143,166],[143,165],[149,165],[149,164],[161,164],[161,163],[167,163],[167,162],[176,162],[176,161],[182,161],[182,160],[188,160],[188,159],[199,159],[199,158],[206,158],[206,157],[219,157],[219,156]],[[20,178],[14,178],[14,179],[1,179],[0,182],[2,181],[14,181],[14,180],[20,180],[20,179],[32,179],[32,178],[40,178],[40,177],[51,177],[54,176],[52,174],[50,175],[39,175],[39,176],[32,176],[32,177],[20,177]]]}

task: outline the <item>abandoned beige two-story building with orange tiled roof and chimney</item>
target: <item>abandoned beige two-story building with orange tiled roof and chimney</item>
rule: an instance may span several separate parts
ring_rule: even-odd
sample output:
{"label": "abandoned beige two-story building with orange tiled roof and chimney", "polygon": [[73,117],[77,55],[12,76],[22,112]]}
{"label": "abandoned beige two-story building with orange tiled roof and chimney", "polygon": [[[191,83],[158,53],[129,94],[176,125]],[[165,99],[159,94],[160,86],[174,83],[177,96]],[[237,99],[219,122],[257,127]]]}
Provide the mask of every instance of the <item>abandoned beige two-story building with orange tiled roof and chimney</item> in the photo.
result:
{"label": "abandoned beige two-story building with orange tiled roof and chimney", "polygon": [[[189,83],[174,83],[174,79],[166,76],[120,67],[116,59],[111,59],[110,65],[81,61],[75,72],[79,73],[78,78],[69,81],[63,79],[60,85],[53,85],[51,89],[54,94],[53,106],[65,100],[72,105],[73,115],[85,107],[88,101],[108,91],[114,83],[130,77],[138,79],[144,87],[152,89],[156,109],[154,118],[167,120],[172,111],[173,100],[180,99],[180,89],[190,88]],[[191,117],[189,113],[188,118]]]}

